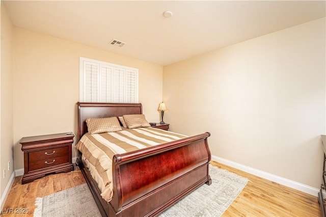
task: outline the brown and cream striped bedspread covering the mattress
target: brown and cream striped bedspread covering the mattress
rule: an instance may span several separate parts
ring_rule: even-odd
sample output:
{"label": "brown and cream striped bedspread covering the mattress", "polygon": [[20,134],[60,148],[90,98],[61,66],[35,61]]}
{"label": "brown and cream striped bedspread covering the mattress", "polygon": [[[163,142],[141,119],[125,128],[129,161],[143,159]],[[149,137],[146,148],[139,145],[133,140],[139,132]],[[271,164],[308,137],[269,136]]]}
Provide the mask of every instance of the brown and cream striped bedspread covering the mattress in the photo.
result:
{"label": "brown and cream striped bedspread covering the mattress", "polygon": [[110,201],[113,196],[112,159],[115,154],[186,137],[186,135],[153,127],[123,128],[117,132],[86,133],[75,147],[83,153],[84,164],[97,182],[101,196],[104,200]]}

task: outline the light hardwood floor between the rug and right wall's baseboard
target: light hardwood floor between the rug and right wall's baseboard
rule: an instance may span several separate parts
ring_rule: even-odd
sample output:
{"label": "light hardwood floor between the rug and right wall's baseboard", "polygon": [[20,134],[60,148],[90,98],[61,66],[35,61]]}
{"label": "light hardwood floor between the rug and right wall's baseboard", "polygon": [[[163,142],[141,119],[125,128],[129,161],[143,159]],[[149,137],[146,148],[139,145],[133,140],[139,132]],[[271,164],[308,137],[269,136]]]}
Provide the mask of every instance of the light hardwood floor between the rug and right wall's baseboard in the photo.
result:
{"label": "light hardwood floor between the rug and right wall's baseboard", "polygon": [[320,216],[318,198],[211,161],[250,181],[222,216]]}

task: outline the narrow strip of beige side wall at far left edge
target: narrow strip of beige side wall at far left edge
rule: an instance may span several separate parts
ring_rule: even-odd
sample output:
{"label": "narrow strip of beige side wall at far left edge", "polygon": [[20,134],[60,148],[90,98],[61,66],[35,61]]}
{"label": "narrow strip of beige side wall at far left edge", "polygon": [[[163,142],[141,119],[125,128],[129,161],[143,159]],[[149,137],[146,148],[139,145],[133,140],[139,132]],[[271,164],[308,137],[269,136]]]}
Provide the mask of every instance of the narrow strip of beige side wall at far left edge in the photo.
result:
{"label": "narrow strip of beige side wall at far left edge", "polygon": [[[13,174],[13,78],[12,78],[12,32],[13,26],[3,3],[1,3],[1,72],[0,72],[0,195]],[[8,171],[8,162],[11,168]],[[6,177],[3,178],[3,171]],[[3,198],[2,198],[3,199]],[[2,204],[3,205],[3,204]],[[2,208],[2,207],[1,207]]]}

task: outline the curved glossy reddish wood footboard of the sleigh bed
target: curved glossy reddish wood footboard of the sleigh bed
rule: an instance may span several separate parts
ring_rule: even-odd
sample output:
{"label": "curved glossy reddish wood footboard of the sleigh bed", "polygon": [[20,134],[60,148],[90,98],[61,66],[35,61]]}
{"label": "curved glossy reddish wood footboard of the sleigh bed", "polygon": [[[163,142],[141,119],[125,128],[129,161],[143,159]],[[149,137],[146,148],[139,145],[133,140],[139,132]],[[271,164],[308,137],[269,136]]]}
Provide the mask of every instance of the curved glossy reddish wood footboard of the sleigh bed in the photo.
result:
{"label": "curved glossy reddish wood footboard of the sleigh bed", "polygon": [[201,184],[210,184],[209,135],[116,154],[110,202],[116,216],[157,215]]}

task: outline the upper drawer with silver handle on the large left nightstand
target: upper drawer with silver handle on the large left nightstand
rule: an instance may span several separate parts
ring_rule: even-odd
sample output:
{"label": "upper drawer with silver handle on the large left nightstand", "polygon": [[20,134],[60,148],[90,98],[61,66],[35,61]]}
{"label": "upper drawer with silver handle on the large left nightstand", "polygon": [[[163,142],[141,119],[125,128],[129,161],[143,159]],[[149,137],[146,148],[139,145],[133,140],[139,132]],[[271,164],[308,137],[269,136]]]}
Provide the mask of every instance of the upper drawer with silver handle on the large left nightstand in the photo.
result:
{"label": "upper drawer with silver handle on the large left nightstand", "polygon": [[40,159],[59,157],[62,155],[67,155],[68,151],[69,151],[68,146],[61,147],[61,148],[44,149],[41,151],[33,151],[29,153],[29,160],[37,161]]}

